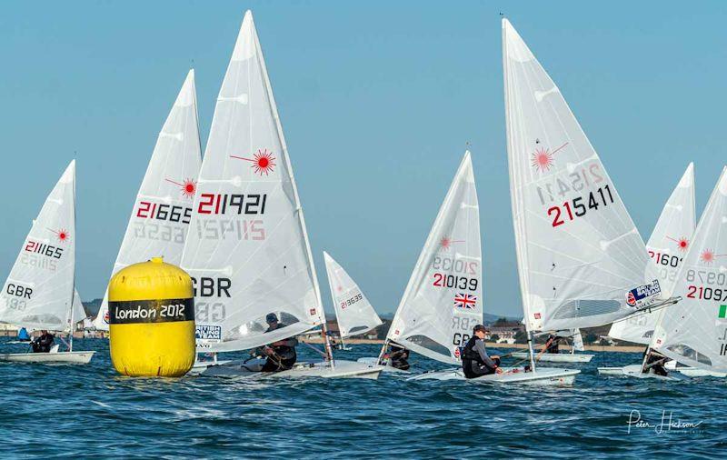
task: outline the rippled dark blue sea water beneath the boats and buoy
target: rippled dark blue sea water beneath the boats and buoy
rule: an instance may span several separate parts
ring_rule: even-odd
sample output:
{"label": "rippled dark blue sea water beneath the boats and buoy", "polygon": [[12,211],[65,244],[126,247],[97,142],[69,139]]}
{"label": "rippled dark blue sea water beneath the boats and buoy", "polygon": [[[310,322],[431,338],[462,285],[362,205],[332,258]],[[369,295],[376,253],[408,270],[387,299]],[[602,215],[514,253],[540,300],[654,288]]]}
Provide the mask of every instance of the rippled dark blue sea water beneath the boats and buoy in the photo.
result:
{"label": "rippled dark blue sea water beneath the boats and buoy", "polygon": [[[106,340],[76,340],[75,348],[98,353],[90,365],[0,364],[0,457],[727,455],[725,381],[596,375],[599,365],[637,363],[637,354],[596,353],[580,365],[573,387],[543,389],[394,375],[254,383],[128,378],[115,374]],[[354,345],[337,356],[378,351]],[[299,359],[314,357],[303,346],[299,352]],[[443,367],[419,355],[412,364]],[[652,426],[629,425],[639,414]]]}

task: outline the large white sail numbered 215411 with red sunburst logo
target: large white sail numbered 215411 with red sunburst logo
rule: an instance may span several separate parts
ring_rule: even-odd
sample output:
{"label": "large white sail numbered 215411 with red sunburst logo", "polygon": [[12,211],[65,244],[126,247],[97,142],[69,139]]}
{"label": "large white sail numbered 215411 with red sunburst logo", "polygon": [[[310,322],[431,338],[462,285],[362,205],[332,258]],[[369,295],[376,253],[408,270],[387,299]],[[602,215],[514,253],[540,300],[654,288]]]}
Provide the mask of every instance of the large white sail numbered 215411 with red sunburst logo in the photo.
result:
{"label": "large white sail numbered 215411 with red sunburst logo", "polygon": [[513,224],[528,330],[604,325],[660,295],[655,266],[558,87],[507,19]]}

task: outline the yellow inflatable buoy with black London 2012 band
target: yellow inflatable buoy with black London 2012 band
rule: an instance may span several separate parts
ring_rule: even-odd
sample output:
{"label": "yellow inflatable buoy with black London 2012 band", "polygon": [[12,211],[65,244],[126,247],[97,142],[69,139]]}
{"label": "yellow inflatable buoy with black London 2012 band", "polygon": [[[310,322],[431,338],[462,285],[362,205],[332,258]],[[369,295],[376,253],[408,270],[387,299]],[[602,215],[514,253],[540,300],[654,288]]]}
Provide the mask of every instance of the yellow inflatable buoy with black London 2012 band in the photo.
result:
{"label": "yellow inflatable buoy with black London 2012 band", "polygon": [[125,267],[108,285],[111,362],[119,374],[176,377],[194,365],[192,278],[162,257]]}

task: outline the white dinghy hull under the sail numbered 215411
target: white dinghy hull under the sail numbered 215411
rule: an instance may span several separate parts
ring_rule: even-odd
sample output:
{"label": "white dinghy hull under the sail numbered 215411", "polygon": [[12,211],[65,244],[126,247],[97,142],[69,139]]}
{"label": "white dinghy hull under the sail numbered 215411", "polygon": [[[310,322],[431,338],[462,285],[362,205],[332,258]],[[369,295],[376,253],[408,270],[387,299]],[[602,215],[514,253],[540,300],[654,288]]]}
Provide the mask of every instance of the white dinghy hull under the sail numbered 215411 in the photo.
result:
{"label": "white dinghy hull under the sail numbered 215411", "polygon": [[570,386],[575,382],[576,375],[581,371],[572,369],[556,369],[539,367],[535,372],[524,372],[523,368],[503,367],[503,374],[483,375],[478,378],[467,378],[462,369],[428,372],[414,375],[410,380],[466,380],[475,384],[521,384],[535,386]]}

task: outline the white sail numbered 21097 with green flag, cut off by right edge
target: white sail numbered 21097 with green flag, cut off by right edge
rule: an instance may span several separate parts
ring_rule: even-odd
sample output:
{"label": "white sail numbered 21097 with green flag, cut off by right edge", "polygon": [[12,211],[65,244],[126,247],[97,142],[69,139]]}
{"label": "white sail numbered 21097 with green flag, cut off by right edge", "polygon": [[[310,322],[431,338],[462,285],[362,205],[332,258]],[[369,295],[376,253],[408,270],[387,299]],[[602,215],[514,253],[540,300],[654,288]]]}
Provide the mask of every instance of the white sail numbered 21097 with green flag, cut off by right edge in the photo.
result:
{"label": "white sail numbered 21097 with green flag, cut off by right edge", "polygon": [[652,348],[682,363],[727,371],[727,168],[682,260],[673,294],[660,312]]}

